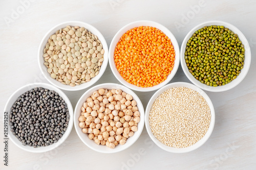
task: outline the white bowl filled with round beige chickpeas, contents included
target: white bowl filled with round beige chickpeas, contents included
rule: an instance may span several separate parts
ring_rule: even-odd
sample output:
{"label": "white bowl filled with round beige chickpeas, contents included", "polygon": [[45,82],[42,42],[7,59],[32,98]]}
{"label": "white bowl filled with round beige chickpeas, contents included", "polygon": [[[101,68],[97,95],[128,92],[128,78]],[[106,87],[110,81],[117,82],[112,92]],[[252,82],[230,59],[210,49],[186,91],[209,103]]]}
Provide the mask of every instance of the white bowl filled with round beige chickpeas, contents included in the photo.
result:
{"label": "white bowl filled with round beige chickpeas, contents included", "polygon": [[144,127],[144,109],[138,96],[115,83],[87,90],[74,112],[74,126],[84,144],[100,153],[129,148]]}

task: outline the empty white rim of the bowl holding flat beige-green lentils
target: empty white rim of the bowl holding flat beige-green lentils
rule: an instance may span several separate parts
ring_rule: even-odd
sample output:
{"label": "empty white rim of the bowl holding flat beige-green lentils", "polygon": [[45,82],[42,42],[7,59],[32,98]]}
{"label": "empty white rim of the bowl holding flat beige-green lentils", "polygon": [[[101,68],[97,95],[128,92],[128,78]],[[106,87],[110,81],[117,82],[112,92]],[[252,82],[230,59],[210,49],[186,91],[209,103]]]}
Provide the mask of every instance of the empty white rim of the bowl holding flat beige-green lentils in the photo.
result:
{"label": "empty white rim of the bowl holding flat beige-green lentils", "polygon": [[[47,67],[44,64],[44,62],[45,62],[44,57],[42,56],[42,55],[44,55],[44,49],[45,49],[46,43],[48,42],[48,39],[50,38],[50,36],[55,34],[55,32],[57,30],[60,30],[67,26],[71,26],[71,27],[79,26],[79,27],[86,28],[88,31],[90,31],[92,34],[94,34],[98,37],[98,39],[101,41],[101,44],[105,51],[104,52],[104,61],[102,62],[102,65],[100,67],[99,74],[97,76],[95,76],[94,78],[92,78],[91,81],[82,83],[80,85],[76,85],[74,87],[71,87],[70,85],[62,84],[59,81],[57,81],[56,79],[51,78],[51,75],[47,72]],[[106,44],[106,41],[105,41],[103,35],[95,27],[93,27],[92,25],[90,25],[89,23],[86,23],[86,22],[67,21],[67,22],[59,23],[57,26],[53,27],[51,30],[49,30],[46,33],[44,38],[42,38],[41,43],[39,45],[39,50],[38,50],[38,63],[39,63],[39,68],[40,68],[42,74],[52,85],[54,85],[58,88],[61,88],[63,90],[75,91],[75,90],[81,90],[81,89],[88,88],[100,79],[100,77],[103,75],[103,73],[106,69],[106,66],[108,65],[108,54],[109,54],[108,44]]]}

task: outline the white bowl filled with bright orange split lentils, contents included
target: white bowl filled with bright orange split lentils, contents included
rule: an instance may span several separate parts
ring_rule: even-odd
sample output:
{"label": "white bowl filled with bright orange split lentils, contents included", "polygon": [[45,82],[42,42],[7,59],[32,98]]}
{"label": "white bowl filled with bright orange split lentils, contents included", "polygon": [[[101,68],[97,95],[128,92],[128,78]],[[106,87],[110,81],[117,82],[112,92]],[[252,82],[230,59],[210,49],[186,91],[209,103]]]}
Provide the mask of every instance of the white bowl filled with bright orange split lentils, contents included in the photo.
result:
{"label": "white bowl filled with bright orange split lentils, contents included", "polygon": [[113,74],[126,87],[153,91],[166,85],[179,67],[175,36],[154,21],[135,21],[121,28],[109,50]]}

